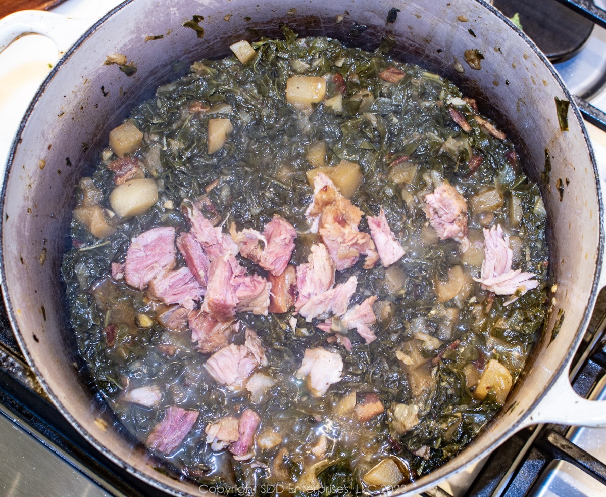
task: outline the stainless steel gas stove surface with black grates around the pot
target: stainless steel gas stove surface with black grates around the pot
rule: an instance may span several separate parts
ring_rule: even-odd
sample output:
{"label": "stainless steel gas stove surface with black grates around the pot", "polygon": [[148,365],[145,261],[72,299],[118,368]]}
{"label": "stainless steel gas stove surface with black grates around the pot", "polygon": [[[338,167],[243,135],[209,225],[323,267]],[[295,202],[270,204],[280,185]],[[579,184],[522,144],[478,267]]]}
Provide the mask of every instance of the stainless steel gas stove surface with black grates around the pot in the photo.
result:
{"label": "stainless steel gas stove surface with black grates around the pot", "polygon": [[[576,10],[592,11],[587,0]],[[82,18],[82,32],[119,0],[67,0],[53,9]],[[595,2],[599,7],[606,0]],[[606,14],[590,38],[556,69],[575,95],[606,110]],[[596,21],[596,19],[593,19]],[[0,168],[21,116],[57,59],[53,42],[24,36],[0,53]],[[598,165],[606,174],[606,115],[588,125]],[[602,123],[600,123],[602,121]],[[1,171],[0,171],[1,172]],[[577,393],[606,399],[606,292],[598,298],[571,371]],[[481,463],[459,473],[429,497],[606,495],[606,428],[545,425],[527,428]],[[14,497],[162,496],[98,453],[62,418],[28,369],[0,306],[0,493]]]}

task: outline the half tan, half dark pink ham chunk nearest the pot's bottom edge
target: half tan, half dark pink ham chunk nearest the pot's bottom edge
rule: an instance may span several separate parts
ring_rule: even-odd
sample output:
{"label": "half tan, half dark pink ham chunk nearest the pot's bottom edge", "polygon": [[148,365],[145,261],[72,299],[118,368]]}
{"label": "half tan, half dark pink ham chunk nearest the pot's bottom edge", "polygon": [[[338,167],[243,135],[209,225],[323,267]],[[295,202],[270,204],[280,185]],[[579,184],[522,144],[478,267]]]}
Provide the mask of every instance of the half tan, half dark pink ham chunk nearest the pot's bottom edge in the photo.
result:
{"label": "half tan, half dark pink ham chunk nearest the pot's bottom edge", "polygon": [[206,441],[212,450],[223,450],[229,447],[236,461],[250,459],[255,435],[261,418],[251,409],[242,412],[240,419],[235,416],[225,416],[204,429],[207,434]]}

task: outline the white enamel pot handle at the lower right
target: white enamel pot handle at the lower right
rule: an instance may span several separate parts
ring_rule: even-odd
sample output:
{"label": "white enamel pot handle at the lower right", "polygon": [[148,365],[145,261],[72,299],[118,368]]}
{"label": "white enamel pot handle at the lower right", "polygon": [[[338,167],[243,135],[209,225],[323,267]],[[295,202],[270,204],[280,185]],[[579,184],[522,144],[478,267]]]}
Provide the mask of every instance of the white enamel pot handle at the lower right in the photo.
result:
{"label": "white enamel pot handle at the lower right", "polygon": [[537,424],[606,427],[606,401],[589,401],[572,388],[568,374],[562,374],[525,419],[525,426]]}

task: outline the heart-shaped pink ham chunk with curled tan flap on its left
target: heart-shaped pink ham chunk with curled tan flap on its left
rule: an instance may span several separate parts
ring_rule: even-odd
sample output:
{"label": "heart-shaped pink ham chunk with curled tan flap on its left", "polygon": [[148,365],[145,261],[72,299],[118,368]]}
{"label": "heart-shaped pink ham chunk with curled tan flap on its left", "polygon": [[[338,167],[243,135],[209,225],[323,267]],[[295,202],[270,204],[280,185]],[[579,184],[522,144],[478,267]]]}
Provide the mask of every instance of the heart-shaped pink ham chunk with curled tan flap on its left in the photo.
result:
{"label": "heart-shaped pink ham chunk with curled tan flap on its left", "polygon": [[266,269],[274,276],[282,274],[290,261],[295,249],[297,232],[287,220],[274,215],[263,233],[254,229],[244,229],[238,232],[231,225],[231,238],[238,243],[242,257]]}

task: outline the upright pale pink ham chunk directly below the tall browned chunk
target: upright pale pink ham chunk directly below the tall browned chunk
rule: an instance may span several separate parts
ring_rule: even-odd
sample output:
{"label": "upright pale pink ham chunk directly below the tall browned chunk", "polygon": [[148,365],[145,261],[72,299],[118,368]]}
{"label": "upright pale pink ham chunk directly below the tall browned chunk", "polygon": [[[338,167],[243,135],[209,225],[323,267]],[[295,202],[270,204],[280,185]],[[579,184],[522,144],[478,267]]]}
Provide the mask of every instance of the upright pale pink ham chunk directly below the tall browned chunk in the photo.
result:
{"label": "upright pale pink ham chunk directly below the tall browned chunk", "polygon": [[312,245],[307,263],[297,266],[298,297],[295,301],[296,311],[311,297],[324,293],[335,284],[335,263],[324,243]]}

